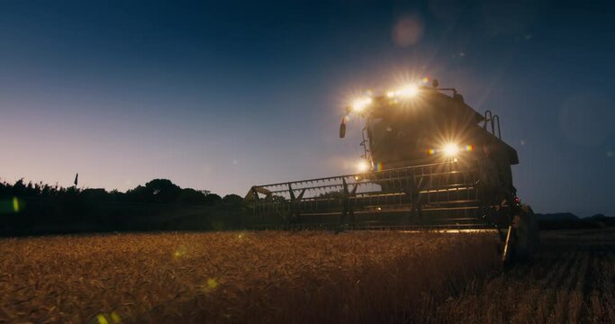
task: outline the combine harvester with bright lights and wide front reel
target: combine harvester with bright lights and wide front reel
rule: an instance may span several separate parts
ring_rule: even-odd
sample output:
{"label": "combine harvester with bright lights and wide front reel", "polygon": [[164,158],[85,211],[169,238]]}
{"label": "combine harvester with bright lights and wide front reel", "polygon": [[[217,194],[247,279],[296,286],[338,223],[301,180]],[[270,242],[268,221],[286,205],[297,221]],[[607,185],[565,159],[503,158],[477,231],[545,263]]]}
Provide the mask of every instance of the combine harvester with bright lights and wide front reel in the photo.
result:
{"label": "combine harvester with bright lights and wide front reel", "polygon": [[480,114],[454,88],[419,85],[358,98],[365,121],[363,169],[278,184],[246,195],[256,229],[492,230],[502,261],[531,257],[538,228],[512,185],[517,151],[502,141],[498,115]]}

